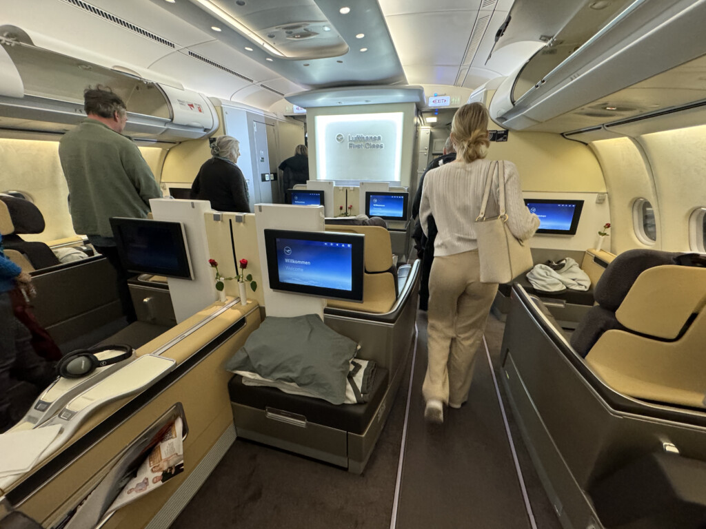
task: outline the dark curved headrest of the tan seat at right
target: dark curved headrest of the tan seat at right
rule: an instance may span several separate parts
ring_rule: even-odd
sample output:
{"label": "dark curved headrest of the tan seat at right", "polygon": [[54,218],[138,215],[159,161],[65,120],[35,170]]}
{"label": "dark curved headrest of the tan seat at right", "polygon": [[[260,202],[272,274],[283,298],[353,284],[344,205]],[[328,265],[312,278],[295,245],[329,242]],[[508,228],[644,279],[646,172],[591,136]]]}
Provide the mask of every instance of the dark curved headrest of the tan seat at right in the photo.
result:
{"label": "dark curved headrest of the tan seat at right", "polygon": [[608,265],[598,281],[595,300],[603,308],[615,312],[642,272],[652,267],[674,265],[680,255],[658,250],[628,250],[621,253]]}

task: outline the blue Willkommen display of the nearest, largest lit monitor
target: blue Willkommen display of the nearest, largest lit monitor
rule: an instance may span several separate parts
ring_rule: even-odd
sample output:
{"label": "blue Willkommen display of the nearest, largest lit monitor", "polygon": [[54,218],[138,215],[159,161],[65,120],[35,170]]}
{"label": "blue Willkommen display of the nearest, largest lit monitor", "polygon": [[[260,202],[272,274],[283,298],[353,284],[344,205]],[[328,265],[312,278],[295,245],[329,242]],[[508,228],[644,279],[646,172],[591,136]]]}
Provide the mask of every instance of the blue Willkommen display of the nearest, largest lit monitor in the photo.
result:
{"label": "blue Willkommen display of the nearest, largest lit monitor", "polygon": [[[351,244],[277,238],[275,248],[282,283],[352,290]],[[287,253],[285,248],[291,251]],[[309,265],[288,263],[287,259],[309,262]]]}

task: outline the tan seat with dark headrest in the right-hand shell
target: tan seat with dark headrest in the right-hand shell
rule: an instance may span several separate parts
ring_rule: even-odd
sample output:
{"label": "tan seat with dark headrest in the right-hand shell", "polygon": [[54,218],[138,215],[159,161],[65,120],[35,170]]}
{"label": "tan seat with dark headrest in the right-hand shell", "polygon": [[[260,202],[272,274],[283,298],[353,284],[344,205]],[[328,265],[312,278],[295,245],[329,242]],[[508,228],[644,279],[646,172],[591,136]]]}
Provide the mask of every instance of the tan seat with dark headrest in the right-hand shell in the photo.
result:
{"label": "tan seat with dark headrest in the right-hand shell", "polygon": [[706,257],[629,250],[595,298],[570,343],[598,377],[638,399],[706,408]]}

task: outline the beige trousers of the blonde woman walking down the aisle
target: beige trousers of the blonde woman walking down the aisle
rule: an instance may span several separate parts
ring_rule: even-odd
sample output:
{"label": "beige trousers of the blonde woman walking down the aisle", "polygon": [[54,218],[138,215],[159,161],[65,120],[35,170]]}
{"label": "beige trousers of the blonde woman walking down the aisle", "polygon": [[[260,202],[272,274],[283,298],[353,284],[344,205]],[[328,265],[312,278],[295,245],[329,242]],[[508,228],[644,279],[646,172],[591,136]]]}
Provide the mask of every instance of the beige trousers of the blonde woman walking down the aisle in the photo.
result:
{"label": "beige trousers of the blonde woman walking down the aisle", "polygon": [[429,358],[421,393],[458,408],[468,399],[497,284],[480,282],[478,250],[434,257],[429,275]]}

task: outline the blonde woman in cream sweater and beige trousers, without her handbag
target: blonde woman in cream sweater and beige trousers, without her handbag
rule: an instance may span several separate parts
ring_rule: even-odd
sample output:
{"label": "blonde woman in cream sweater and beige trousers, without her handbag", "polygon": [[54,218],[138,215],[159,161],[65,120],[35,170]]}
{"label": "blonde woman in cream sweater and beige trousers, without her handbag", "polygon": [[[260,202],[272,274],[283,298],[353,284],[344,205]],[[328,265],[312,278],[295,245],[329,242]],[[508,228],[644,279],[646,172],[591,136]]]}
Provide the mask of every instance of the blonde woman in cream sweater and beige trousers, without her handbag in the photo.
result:
{"label": "blonde woman in cream sweater and beige trousers, without her handbag", "polygon": [[[429,171],[421,192],[421,229],[428,237],[432,216],[438,229],[429,275],[429,358],[421,388],[424,418],[431,422],[443,422],[444,404],[460,408],[467,401],[474,358],[498,289],[497,284],[480,282],[474,228],[486,171],[494,165],[484,159],[490,146],[488,121],[488,109],[481,103],[465,104],[456,111],[451,141],[457,158]],[[515,164],[504,166],[503,174],[493,178],[486,214],[498,215],[499,186],[505,186],[508,227],[524,241],[537,231],[539,218],[522,201]]]}

